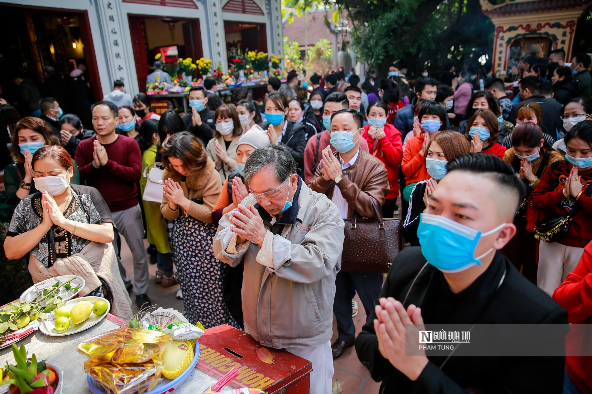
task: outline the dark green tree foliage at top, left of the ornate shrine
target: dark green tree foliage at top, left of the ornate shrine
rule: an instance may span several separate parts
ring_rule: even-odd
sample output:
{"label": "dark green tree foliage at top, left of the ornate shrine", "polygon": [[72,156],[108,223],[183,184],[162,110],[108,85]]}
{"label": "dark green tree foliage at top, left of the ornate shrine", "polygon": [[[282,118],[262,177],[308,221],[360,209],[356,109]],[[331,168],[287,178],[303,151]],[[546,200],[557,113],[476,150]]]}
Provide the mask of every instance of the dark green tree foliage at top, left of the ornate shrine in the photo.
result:
{"label": "dark green tree foliage at top, left of the ornate shrine", "polygon": [[358,56],[385,70],[403,61],[410,70],[441,70],[451,59],[475,64],[491,56],[493,23],[479,0],[335,0],[353,21]]}

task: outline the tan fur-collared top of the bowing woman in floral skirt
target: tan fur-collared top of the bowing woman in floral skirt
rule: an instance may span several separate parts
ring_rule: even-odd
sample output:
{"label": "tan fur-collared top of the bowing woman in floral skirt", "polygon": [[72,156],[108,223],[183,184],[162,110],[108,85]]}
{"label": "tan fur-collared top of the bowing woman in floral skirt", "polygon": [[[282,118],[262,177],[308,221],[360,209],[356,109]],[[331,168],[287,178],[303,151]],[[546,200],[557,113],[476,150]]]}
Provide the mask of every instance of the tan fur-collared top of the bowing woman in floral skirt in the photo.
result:
{"label": "tan fur-collared top of the bowing woman in floral skirt", "polygon": [[212,209],[222,191],[222,181],[220,181],[220,175],[214,169],[214,162],[208,158],[205,166],[199,170],[194,170],[186,177],[185,182],[181,181],[181,174],[175,170],[165,170],[162,174],[162,179],[167,180],[168,178],[172,178],[173,181],[181,184],[183,194],[185,194],[186,198],[189,198],[189,200],[198,198],[199,200],[203,200],[204,203],[198,204],[195,201],[191,201],[188,211],[185,212],[181,206],[178,206],[173,211],[170,209],[169,199],[163,196],[162,203],[160,203],[162,216],[168,220],[175,220],[179,215],[185,214],[193,216],[202,222],[212,223]]}

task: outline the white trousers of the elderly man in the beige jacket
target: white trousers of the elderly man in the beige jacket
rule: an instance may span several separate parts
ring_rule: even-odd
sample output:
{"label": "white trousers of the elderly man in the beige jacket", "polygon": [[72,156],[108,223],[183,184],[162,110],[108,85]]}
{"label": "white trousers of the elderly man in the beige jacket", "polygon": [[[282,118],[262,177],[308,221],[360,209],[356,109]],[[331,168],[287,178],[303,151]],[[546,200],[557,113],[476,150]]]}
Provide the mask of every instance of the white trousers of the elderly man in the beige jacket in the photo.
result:
{"label": "white trousers of the elderly man in the beige jacket", "polygon": [[313,372],[310,373],[310,394],[331,394],[333,392],[331,341],[317,347],[287,347],[285,350],[313,363]]}

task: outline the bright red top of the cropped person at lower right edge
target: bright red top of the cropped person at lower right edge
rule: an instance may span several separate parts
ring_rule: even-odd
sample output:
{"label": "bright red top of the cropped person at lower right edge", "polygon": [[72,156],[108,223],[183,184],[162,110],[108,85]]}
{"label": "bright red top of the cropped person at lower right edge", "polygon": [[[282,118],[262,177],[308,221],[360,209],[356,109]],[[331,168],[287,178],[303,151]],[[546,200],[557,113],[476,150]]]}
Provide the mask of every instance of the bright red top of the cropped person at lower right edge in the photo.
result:
{"label": "bright red top of the cropped person at lower right edge", "polygon": [[[592,242],[574,271],[555,289],[553,298],[567,311],[570,323],[592,324]],[[565,369],[581,392],[592,394],[592,357],[565,357]]]}

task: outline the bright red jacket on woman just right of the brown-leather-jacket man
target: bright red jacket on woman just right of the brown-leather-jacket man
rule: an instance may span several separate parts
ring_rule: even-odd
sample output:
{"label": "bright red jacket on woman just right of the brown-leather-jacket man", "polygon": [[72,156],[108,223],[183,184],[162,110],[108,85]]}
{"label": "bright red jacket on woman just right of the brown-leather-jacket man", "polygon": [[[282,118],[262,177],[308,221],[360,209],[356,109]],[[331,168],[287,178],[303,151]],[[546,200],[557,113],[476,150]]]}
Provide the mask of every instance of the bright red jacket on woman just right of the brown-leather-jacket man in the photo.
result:
{"label": "bright red jacket on woman just right of the brown-leather-jacket man", "polygon": [[[403,141],[401,141],[401,132],[398,131],[395,126],[386,124],[384,125],[384,133],[386,134],[381,139],[374,139],[368,135],[368,129],[370,125],[364,126],[363,138],[368,142],[368,152],[374,155],[384,167],[387,168],[388,172],[388,187],[389,192],[388,198],[397,198],[399,196],[399,166],[403,160]],[[376,144],[376,145],[375,145]]]}

